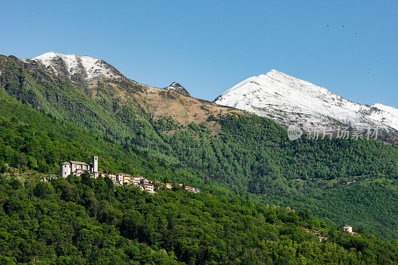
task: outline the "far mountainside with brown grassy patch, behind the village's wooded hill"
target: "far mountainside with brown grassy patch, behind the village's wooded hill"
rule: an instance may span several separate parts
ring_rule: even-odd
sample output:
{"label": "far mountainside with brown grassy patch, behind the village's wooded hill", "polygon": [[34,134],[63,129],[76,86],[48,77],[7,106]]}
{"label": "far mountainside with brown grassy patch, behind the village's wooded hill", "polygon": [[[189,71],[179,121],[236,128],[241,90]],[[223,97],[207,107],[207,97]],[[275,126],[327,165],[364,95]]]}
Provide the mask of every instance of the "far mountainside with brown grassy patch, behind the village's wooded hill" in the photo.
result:
{"label": "far mountainside with brown grassy patch, behind the village's wooded hill", "polygon": [[[191,183],[196,179],[218,185],[225,194],[250,192],[256,201],[296,205],[331,224],[355,221],[381,237],[398,238],[397,209],[391,203],[395,192],[390,192],[390,199],[376,192],[381,188],[372,190],[365,199],[376,198],[377,203],[361,209],[356,206],[358,194],[342,197],[337,205],[354,205],[344,211],[332,207],[333,199],[326,196],[328,189],[337,193],[343,187],[355,189],[344,186],[352,178],[380,180],[383,185],[387,181],[385,189],[395,191],[398,151],[389,145],[368,140],[290,141],[286,129],[272,120],[231,107],[146,86],[121,74],[89,79],[83,70],[71,75],[36,60],[24,61],[0,56],[0,89],[50,117],[152,155],[173,165],[173,170],[188,168],[195,175],[184,173]],[[61,60],[54,67],[64,64]],[[366,220],[361,215],[364,209]]]}

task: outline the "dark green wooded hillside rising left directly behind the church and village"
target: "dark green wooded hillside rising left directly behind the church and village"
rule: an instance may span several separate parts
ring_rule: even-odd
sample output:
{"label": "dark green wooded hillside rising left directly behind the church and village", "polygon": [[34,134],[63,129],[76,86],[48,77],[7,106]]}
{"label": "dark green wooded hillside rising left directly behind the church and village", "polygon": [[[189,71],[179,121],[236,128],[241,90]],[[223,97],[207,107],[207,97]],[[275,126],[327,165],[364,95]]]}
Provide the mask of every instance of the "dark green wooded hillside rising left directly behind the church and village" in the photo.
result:
{"label": "dark green wooded hillside rising left directly behind the church and village", "polygon": [[[168,166],[146,152],[131,150],[113,140],[52,118],[0,91],[0,167],[59,174],[63,161],[90,161],[99,155],[102,172],[141,175],[152,180],[196,183],[197,171]],[[50,116],[50,117],[49,117]],[[40,174],[36,174],[40,176]]]}

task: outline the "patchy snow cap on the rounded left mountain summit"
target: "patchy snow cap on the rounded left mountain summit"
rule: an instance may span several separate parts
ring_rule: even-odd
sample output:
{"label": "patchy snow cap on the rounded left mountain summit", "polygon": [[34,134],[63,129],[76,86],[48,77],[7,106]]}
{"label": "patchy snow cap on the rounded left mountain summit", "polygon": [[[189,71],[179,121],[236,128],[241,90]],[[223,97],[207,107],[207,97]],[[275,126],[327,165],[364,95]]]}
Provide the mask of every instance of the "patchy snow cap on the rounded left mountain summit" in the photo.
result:
{"label": "patchy snow cap on the rounded left mountain summit", "polygon": [[[29,59],[21,59],[28,62]],[[30,59],[46,66],[56,75],[63,73],[69,74],[72,79],[80,77],[82,79],[91,80],[96,77],[117,78],[121,74],[113,66],[106,62],[95,59],[91,56],[65,55],[60,53],[49,52]],[[75,77],[75,78],[73,78]]]}

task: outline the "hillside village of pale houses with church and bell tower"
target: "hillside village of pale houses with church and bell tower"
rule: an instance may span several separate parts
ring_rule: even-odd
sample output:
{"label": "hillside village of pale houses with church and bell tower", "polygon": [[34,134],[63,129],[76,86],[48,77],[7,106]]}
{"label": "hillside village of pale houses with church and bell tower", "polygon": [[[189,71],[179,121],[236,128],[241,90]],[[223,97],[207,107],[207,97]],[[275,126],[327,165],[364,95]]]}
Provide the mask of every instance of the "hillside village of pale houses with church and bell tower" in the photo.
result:
{"label": "hillside village of pale houses with church and bell tower", "polygon": [[67,161],[62,163],[60,165],[60,176],[63,178],[66,178],[71,174],[73,176],[81,176],[83,173],[89,172],[92,178],[108,177],[109,179],[112,180],[114,185],[117,186],[133,185],[134,187],[140,188],[141,191],[146,191],[150,194],[156,193],[155,186],[157,187],[165,186],[169,190],[171,190],[173,187],[182,187],[188,192],[200,193],[199,189],[185,186],[183,184],[152,182],[144,177],[132,177],[130,176],[130,174],[126,173],[106,174],[98,171],[98,156],[94,155],[92,159],[93,159],[92,163],[79,162],[79,161]]}

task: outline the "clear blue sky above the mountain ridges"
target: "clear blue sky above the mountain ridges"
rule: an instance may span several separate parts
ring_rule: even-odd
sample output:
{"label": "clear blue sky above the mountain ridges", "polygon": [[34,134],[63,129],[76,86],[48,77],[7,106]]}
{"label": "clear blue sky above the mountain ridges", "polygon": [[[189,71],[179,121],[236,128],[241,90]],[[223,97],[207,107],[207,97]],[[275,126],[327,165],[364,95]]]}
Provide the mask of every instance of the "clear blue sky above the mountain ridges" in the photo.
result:
{"label": "clear blue sky above the mountain ridges", "polygon": [[0,25],[0,54],[90,55],[207,100],[277,69],[398,108],[397,0],[2,1]]}

